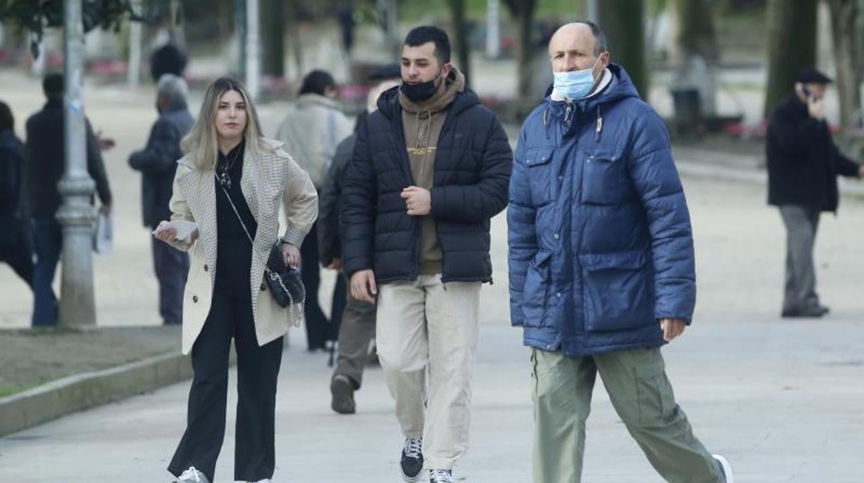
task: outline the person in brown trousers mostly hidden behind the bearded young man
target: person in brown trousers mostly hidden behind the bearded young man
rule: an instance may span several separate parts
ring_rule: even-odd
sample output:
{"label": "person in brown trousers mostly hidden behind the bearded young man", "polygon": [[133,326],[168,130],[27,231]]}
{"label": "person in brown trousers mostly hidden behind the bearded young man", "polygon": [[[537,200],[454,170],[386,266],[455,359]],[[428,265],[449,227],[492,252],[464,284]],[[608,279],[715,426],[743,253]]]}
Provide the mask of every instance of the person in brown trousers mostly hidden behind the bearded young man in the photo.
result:
{"label": "person in brown trousers mostly hidden behind the bearded young man", "polygon": [[[399,68],[396,67],[398,75]],[[385,80],[374,86],[366,100],[366,110],[357,117],[357,127],[363,124],[370,112],[378,109],[381,92],[397,86],[397,80]],[[351,161],[356,132],[346,137],[336,148],[333,165],[327,182],[321,189],[318,212],[318,246],[321,265],[330,270],[342,270],[342,246],[340,240],[340,207],[345,184],[345,170]],[[344,276],[340,274],[340,276]],[[340,414],[353,414],[356,410],[354,391],[360,389],[363,369],[369,360],[369,346],[375,337],[375,304],[358,300],[348,290],[345,311],[339,328],[338,356],[333,378],[330,380],[330,407]]]}

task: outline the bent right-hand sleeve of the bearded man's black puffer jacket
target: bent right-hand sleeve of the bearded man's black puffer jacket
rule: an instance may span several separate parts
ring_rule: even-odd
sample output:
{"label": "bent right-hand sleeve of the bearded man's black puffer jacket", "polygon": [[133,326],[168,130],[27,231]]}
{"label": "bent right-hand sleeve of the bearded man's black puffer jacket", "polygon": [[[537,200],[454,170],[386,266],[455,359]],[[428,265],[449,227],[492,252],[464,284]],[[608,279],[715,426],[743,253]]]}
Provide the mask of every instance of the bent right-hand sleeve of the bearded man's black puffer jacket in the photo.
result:
{"label": "bent right-hand sleeve of the bearded man's black puffer jacket", "polygon": [[492,117],[483,149],[480,181],[473,185],[433,187],[429,215],[435,219],[480,223],[500,213],[507,206],[512,160],[507,135],[498,119]]}

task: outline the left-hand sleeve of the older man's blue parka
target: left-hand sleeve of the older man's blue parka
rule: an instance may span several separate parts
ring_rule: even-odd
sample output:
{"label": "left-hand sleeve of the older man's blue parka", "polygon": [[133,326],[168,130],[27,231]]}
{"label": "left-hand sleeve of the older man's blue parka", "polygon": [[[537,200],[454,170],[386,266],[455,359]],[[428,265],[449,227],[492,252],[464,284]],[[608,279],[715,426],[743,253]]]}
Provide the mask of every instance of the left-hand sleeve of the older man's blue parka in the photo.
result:
{"label": "left-hand sleeve of the older man's blue parka", "polygon": [[[527,123],[525,123],[527,124]],[[519,134],[516,159],[510,178],[510,206],[507,208],[507,245],[510,279],[510,323],[524,325],[522,289],[528,264],[537,253],[536,210],[530,201],[530,181],[524,165],[525,130]]]}

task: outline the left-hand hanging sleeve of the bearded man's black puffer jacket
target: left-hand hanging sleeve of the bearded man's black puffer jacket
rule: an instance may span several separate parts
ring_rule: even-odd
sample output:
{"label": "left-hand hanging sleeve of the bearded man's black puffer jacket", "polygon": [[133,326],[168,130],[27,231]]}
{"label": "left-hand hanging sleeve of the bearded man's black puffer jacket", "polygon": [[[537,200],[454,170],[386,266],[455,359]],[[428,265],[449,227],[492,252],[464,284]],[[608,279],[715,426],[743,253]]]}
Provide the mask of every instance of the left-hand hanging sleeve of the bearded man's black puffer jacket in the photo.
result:
{"label": "left-hand hanging sleeve of the bearded man's black puffer jacket", "polygon": [[342,265],[349,278],[356,271],[372,269],[377,194],[375,170],[369,156],[368,123],[365,123],[358,131],[342,192]]}

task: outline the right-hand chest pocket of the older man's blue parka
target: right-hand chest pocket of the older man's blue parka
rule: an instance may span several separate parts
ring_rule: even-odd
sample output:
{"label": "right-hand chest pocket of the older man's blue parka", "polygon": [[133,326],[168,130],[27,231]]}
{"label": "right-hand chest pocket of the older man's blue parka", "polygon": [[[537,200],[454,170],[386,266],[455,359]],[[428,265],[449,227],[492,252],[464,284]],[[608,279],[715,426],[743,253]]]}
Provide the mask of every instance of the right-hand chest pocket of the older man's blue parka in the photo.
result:
{"label": "right-hand chest pocket of the older man's blue parka", "polygon": [[582,161],[581,202],[618,205],[632,196],[630,177],[621,149],[591,149]]}

